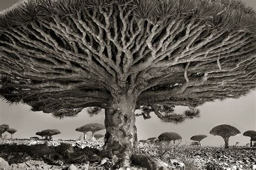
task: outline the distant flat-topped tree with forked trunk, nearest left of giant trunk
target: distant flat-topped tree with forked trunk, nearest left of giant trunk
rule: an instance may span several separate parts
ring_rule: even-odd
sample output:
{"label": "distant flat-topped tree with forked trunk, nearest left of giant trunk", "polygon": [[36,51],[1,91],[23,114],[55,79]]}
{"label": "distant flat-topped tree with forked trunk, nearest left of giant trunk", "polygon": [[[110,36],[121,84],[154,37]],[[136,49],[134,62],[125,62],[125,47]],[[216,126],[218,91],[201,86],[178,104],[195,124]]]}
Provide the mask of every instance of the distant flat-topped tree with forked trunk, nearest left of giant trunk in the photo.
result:
{"label": "distant flat-topped tree with forked trunk, nearest left of giant trunk", "polygon": [[105,129],[105,126],[103,124],[99,123],[89,123],[86,125],[83,125],[79,128],[76,129],[78,132],[83,132],[84,133],[84,139],[85,139],[85,134],[89,131],[92,132],[92,138],[94,138],[95,132],[100,131]]}

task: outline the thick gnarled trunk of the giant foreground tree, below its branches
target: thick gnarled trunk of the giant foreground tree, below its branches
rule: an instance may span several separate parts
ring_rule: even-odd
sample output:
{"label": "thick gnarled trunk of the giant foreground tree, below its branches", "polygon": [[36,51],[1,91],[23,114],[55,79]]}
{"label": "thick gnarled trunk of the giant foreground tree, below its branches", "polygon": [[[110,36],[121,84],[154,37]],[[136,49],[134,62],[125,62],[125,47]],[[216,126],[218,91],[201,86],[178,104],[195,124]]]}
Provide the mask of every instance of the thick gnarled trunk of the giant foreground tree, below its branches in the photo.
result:
{"label": "thick gnarled trunk of the giant foreground tree, below its branches", "polygon": [[126,94],[114,98],[111,107],[105,110],[104,149],[116,168],[130,166],[131,155],[137,146],[135,107],[136,97]]}

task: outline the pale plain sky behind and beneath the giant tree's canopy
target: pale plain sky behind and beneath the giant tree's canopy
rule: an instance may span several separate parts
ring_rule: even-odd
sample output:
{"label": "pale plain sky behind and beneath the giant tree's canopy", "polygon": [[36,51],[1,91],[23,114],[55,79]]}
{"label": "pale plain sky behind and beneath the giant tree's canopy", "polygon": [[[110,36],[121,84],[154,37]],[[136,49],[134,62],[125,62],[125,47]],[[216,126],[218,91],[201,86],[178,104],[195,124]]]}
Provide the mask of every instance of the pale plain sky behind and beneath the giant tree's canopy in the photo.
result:
{"label": "pale plain sky behind and beneath the giant tree's canopy", "polygon": [[[8,8],[18,0],[0,0],[0,10]],[[256,8],[256,0],[244,0],[248,5]],[[181,113],[186,107],[177,107],[176,112]],[[152,118],[144,120],[137,117],[136,126],[138,139],[158,137],[163,132],[177,132],[183,137],[183,144],[191,142],[190,137],[196,134],[206,134],[208,137],[202,140],[203,145],[220,146],[224,144],[221,137],[213,136],[209,131],[217,125],[229,124],[241,131],[241,134],[230,138],[230,145],[239,142],[245,145],[250,142],[249,137],[242,136],[247,130],[256,130],[256,91],[252,91],[246,97],[237,100],[228,99],[224,102],[215,101],[206,103],[199,108],[201,117],[199,119],[188,120],[183,124],[173,125],[162,123],[160,119],[151,113]],[[12,105],[0,101],[0,124],[9,124],[11,128],[18,131],[14,134],[15,138],[29,138],[36,136],[35,133],[44,129],[58,129],[61,134],[53,136],[55,139],[77,139],[80,136],[75,129],[87,123],[104,124],[104,113],[95,117],[89,117],[86,109],[75,118],[64,120],[55,119],[51,114],[43,112],[32,112],[28,105]],[[103,131],[99,133],[104,134]]]}

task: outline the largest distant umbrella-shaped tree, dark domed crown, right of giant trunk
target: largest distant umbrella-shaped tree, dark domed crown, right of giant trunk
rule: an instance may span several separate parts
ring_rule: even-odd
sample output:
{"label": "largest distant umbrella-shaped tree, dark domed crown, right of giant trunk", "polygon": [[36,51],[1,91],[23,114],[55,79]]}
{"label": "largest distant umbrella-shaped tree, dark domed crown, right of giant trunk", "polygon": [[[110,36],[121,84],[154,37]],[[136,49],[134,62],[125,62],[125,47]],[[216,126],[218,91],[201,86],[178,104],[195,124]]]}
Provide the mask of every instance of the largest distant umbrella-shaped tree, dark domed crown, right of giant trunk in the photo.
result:
{"label": "largest distant umbrella-shaped tree, dark domed crown, right of giant trunk", "polygon": [[210,134],[213,134],[214,136],[221,136],[223,137],[225,141],[225,148],[228,148],[228,139],[231,136],[235,136],[237,134],[241,133],[237,128],[231,126],[231,125],[218,125],[215,126],[211,131]]}

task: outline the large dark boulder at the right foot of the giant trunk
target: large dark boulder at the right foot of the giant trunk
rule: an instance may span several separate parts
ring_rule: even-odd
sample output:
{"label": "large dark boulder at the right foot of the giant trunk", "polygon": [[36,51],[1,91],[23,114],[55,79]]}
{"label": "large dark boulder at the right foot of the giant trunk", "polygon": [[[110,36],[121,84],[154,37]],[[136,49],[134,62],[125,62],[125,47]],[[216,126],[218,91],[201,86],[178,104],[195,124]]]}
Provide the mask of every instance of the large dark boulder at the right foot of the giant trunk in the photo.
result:
{"label": "large dark boulder at the right foot of the giant trunk", "polygon": [[133,154],[131,157],[133,165],[147,169],[171,169],[175,166],[169,166],[165,162],[146,154]]}

